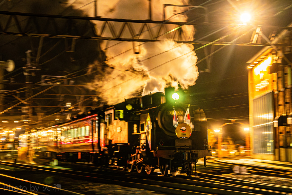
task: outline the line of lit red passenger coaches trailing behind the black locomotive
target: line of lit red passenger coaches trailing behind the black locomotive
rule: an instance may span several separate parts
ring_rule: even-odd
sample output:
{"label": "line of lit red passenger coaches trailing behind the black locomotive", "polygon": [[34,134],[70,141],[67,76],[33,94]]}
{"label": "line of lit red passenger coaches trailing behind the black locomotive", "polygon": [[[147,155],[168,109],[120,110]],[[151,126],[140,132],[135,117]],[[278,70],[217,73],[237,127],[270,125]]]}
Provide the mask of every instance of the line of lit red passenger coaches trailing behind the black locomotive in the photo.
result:
{"label": "line of lit red passenger coaches trailing behind the black locomotive", "polygon": [[[104,112],[93,110],[87,115],[77,115],[71,121],[60,123],[36,133],[30,137],[36,140],[32,147],[37,156],[78,161],[81,158],[93,161],[93,155],[101,151],[98,135],[104,134]],[[20,140],[27,134],[20,135]]]}

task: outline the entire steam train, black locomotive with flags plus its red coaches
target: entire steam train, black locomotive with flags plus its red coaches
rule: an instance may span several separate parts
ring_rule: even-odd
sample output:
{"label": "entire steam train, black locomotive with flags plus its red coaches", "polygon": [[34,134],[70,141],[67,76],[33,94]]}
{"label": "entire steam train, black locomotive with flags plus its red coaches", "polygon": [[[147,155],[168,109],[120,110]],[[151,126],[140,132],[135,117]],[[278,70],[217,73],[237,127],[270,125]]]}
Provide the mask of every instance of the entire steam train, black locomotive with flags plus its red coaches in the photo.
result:
{"label": "entire steam train, black locomotive with flags plus its red coaches", "polygon": [[[206,115],[198,106],[173,99],[174,88],[105,106],[29,136],[38,156],[123,167],[161,175],[178,169],[192,175],[196,163],[212,156]],[[26,143],[28,134],[19,136]],[[21,145],[21,144],[20,144]],[[25,146],[25,145],[22,145]]]}

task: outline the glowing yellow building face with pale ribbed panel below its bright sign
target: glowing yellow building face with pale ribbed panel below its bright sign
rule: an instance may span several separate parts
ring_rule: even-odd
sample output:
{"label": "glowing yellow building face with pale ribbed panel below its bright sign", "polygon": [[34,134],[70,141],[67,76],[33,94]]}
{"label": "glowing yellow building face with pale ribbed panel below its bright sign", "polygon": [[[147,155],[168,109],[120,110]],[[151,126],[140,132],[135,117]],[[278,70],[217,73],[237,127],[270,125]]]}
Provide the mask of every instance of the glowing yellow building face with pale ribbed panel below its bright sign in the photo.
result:
{"label": "glowing yellow building face with pale ribbed panel below its bright sign", "polygon": [[251,142],[254,154],[274,154],[274,79],[270,74],[272,55],[259,57],[249,71],[250,113],[253,136]]}

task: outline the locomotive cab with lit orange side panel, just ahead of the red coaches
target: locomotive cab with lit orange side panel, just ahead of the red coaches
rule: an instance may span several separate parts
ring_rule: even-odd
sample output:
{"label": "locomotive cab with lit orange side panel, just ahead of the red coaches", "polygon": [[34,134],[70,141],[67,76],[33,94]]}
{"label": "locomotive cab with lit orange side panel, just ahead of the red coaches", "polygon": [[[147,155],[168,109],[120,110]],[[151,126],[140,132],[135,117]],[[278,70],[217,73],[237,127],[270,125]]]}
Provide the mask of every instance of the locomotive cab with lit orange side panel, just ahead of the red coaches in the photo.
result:
{"label": "locomotive cab with lit orange side panel, just ahead of the red coaches", "polygon": [[125,167],[130,155],[139,145],[140,99],[128,99],[105,111],[106,132],[103,150],[108,150],[110,165]]}

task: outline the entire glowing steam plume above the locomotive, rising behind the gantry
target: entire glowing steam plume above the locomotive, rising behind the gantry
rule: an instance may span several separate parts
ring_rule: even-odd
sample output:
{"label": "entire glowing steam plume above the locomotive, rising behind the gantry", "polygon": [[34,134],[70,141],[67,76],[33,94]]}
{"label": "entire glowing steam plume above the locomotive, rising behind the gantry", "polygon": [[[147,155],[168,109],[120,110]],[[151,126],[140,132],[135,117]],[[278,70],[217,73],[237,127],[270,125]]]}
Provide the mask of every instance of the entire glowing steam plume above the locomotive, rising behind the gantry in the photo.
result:
{"label": "entire glowing steam plume above the locomotive, rising behind the gantry", "polygon": [[[73,0],[70,0],[73,2]],[[79,4],[72,4],[76,8],[81,4],[88,4],[91,1],[79,0]],[[155,0],[152,1],[152,20],[162,21],[170,19],[175,22],[186,22],[185,14],[178,14],[189,8],[179,6],[167,6],[164,4],[187,5],[186,1],[178,0]],[[85,8],[84,8],[85,9]],[[165,15],[163,15],[165,11]],[[93,9],[86,8],[88,15],[93,15]],[[97,15],[102,18],[121,18],[133,20],[147,20],[149,16],[148,0],[98,0]],[[100,33],[103,22],[96,22],[96,30]],[[120,29],[121,23],[113,23],[116,31]],[[141,24],[133,24],[133,29],[137,34]],[[159,24],[148,24],[153,32],[158,32]],[[166,26],[163,26],[166,27]],[[174,29],[175,25],[168,25],[167,31]],[[165,31],[166,32],[166,31]],[[194,28],[183,26],[176,30],[175,40],[183,37],[184,40],[193,39]],[[118,33],[118,32],[116,32]],[[106,28],[103,37],[111,37],[111,31]],[[153,39],[152,35],[145,31],[139,34],[142,39]],[[129,31],[124,31],[121,38],[135,38]],[[99,74],[91,83],[91,89],[101,94],[107,103],[117,103],[124,99],[131,98],[133,95],[142,95],[154,92],[164,92],[165,87],[176,87],[180,85],[187,88],[195,84],[198,70],[195,66],[197,56],[193,51],[192,44],[176,43],[172,40],[173,33],[158,37],[157,42],[118,42],[104,41],[102,49],[107,59],[109,67],[102,66],[100,63],[90,65],[91,70],[98,69]]]}

